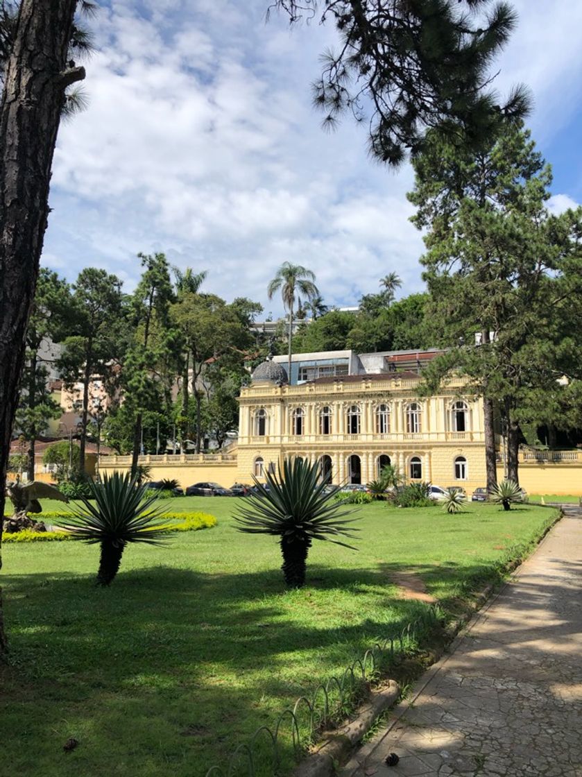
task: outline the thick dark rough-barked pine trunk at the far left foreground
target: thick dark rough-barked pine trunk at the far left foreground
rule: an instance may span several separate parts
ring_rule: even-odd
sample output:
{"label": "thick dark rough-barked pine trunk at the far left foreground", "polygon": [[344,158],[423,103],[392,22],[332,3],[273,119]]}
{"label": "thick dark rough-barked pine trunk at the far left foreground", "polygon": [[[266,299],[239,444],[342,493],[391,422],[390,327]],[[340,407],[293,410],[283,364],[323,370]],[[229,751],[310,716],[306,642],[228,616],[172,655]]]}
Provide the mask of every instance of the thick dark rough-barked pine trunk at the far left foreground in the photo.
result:
{"label": "thick dark rough-barked pine trunk at the far left foreground", "polygon": [[[48,191],[76,0],[22,0],[0,106],[0,515],[26,326],[47,228]],[[0,609],[0,660],[5,655]]]}

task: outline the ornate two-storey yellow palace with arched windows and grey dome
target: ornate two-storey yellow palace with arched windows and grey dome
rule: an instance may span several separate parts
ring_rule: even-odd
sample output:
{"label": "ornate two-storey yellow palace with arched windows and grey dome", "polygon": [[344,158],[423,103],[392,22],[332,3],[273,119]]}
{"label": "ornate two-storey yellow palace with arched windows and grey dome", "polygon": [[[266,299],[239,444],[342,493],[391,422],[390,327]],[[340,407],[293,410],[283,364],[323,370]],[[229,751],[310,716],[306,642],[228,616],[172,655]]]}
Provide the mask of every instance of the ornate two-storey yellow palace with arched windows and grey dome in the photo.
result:
{"label": "ornate two-storey yellow palace with arched windows and grey dome", "polygon": [[482,400],[464,378],[419,397],[422,366],[437,353],[294,354],[291,381],[287,357],[267,359],[240,395],[239,478],[301,456],[333,483],[369,483],[392,464],[412,481],[483,486]]}

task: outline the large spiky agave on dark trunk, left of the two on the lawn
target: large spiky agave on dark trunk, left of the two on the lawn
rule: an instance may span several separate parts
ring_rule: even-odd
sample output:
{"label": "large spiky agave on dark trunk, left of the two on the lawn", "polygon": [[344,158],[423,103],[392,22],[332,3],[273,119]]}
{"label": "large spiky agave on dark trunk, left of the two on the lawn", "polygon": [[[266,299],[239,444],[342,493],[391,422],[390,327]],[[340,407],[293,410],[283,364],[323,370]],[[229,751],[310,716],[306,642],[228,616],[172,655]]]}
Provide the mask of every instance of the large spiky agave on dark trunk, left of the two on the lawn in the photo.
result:
{"label": "large spiky agave on dark trunk, left of the two on the lawn", "polygon": [[128,542],[147,542],[159,545],[160,535],[167,531],[159,519],[162,507],[154,507],[158,495],[146,497],[148,484],[138,484],[138,478],[129,472],[104,475],[101,483],[90,482],[94,503],[83,497],[83,507],[78,506],[68,517],[63,528],[74,539],[89,545],[101,545],[97,585],[110,585],[121,563]]}

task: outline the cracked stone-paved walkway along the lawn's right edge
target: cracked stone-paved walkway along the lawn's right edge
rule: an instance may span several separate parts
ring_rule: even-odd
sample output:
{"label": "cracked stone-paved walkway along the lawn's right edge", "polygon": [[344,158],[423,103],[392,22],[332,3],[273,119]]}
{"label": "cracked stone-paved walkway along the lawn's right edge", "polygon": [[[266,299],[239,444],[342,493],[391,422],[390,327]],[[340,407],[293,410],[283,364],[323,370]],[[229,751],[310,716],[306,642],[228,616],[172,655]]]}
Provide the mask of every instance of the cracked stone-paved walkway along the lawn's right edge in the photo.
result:
{"label": "cracked stone-paved walkway along the lawn's right edge", "polygon": [[582,511],[565,511],[341,777],[582,777]]}

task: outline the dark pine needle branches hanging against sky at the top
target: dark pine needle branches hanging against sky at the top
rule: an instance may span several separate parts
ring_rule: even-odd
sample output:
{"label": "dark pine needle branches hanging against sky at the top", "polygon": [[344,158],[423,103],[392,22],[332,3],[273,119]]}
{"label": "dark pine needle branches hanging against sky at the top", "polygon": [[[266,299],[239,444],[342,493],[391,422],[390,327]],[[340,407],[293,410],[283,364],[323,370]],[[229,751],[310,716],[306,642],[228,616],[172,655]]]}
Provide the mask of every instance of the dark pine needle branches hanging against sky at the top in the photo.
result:
{"label": "dark pine needle branches hanging against sky at the top", "polygon": [[343,114],[368,124],[375,159],[397,167],[421,151],[427,128],[477,148],[500,119],[524,117],[528,89],[502,99],[493,61],[517,15],[494,0],[273,0],[291,23],[319,17],[340,41],[322,57],[313,102],[333,130]]}

